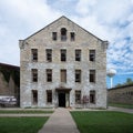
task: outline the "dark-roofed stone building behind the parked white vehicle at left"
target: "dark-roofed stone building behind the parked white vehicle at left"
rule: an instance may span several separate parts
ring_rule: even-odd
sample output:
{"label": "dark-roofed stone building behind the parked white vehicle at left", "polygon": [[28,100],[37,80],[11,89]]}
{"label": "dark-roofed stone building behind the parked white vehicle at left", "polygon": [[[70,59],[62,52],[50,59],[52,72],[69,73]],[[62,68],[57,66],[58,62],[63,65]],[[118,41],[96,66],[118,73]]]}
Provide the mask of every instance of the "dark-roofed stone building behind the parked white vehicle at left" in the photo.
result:
{"label": "dark-roofed stone building behind the parked white vehicle at left", "polygon": [[20,68],[0,63],[0,96],[14,96],[20,99]]}

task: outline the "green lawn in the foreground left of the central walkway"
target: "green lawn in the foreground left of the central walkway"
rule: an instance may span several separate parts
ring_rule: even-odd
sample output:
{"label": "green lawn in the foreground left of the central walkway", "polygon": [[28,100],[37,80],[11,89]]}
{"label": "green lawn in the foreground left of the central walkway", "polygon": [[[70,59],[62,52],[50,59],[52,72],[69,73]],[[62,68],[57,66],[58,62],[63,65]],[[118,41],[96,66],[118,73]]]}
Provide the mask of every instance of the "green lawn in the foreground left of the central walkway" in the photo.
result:
{"label": "green lawn in the foreground left of the central walkway", "polygon": [[48,117],[0,117],[0,133],[38,133]]}

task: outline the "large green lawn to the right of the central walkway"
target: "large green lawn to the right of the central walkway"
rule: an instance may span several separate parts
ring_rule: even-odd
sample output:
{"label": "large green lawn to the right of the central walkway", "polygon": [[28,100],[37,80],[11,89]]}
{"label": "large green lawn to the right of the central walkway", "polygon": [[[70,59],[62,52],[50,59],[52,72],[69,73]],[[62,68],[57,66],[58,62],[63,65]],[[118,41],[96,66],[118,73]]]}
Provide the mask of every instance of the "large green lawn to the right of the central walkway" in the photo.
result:
{"label": "large green lawn to the right of the central walkway", "polygon": [[71,112],[81,133],[133,133],[133,114],[109,111]]}

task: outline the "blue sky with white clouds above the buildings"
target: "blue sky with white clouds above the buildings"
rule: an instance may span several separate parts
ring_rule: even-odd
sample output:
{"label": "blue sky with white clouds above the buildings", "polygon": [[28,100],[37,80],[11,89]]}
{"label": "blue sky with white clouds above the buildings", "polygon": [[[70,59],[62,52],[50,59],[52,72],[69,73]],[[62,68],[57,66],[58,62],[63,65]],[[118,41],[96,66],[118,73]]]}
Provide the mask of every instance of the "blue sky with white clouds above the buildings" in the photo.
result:
{"label": "blue sky with white clouds above the buildings", "polygon": [[61,16],[109,40],[114,85],[133,79],[133,0],[0,0],[0,62],[19,65],[18,41]]}

